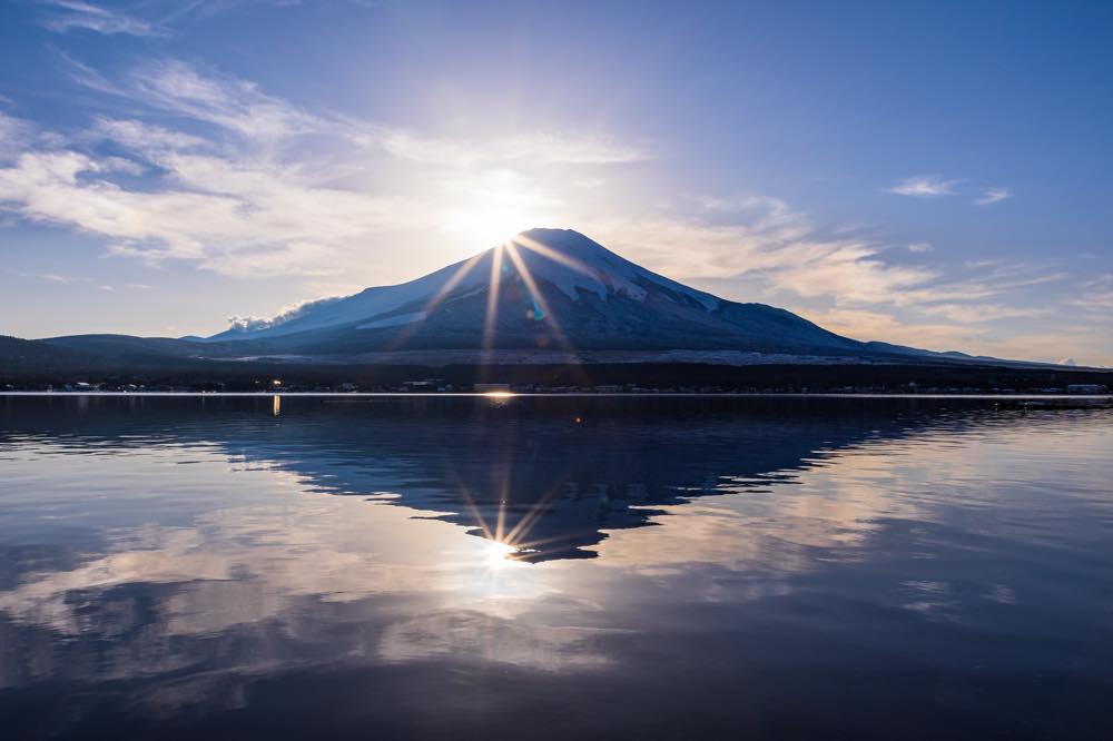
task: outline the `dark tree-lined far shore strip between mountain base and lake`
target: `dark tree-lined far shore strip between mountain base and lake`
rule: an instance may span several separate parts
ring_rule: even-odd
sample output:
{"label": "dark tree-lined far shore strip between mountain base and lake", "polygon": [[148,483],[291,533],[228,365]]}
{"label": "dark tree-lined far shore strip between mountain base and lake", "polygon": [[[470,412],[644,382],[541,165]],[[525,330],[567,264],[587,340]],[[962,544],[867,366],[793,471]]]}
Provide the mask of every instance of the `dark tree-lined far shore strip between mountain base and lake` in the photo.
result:
{"label": "dark tree-lined far shore strip between mountain base and lake", "polygon": [[[217,366],[217,367],[215,367]],[[277,382],[277,383],[276,383]],[[105,389],[394,391],[402,387],[467,391],[477,383],[519,389],[605,391],[785,391],[785,392],[1038,392],[1072,384],[1113,386],[1113,370],[1073,370],[981,365],[290,365],[204,363],[86,373],[24,367],[0,370],[0,389],[62,389],[90,384]],[[83,386],[82,386],[83,388]]]}

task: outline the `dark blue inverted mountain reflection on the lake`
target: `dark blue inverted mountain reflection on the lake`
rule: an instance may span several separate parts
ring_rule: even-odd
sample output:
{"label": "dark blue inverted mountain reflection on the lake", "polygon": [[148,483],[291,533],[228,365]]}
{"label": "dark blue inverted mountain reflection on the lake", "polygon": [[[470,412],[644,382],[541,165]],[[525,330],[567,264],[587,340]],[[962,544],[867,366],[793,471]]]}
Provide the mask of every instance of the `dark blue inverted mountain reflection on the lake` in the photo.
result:
{"label": "dark blue inverted mountain reflection on the lake", "polygon": [[602,531],[649,524],[654,507],[725,482],[760,485],[824,451],[939,424],[939,405],[956,402],[286,397],[278,416],[269,397],[59,397],[57,416],[41,399],[6,404],[9,434],[215,444],[322,492],[396,494],[544,561],[593,556]]}

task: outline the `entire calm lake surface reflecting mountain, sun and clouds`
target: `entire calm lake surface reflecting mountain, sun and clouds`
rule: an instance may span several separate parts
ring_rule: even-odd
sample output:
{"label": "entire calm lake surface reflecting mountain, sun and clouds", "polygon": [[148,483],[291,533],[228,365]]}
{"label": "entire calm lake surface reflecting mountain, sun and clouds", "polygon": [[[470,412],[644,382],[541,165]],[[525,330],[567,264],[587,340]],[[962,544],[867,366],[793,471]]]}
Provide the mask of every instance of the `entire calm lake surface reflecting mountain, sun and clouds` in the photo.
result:
{"label": "entire calm lake surface reflecting mountain, sun and clouds", "polygon": [[0,737],[1113,738],[1113,411],[0,397]]}

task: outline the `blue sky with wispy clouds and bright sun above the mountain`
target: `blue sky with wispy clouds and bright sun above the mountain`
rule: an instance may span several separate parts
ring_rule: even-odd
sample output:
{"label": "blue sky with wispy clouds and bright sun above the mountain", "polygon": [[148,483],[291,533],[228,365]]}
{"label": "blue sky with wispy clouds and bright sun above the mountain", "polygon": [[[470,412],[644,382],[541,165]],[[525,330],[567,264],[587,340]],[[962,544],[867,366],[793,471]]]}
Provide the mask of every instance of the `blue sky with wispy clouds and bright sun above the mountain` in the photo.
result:
{"label": "blue sky with wispy clouds and bright sun above the mountain", "polygon": [[208,335],[574,228],[1113,365],[1113,3],[9,0],[0,334]]}

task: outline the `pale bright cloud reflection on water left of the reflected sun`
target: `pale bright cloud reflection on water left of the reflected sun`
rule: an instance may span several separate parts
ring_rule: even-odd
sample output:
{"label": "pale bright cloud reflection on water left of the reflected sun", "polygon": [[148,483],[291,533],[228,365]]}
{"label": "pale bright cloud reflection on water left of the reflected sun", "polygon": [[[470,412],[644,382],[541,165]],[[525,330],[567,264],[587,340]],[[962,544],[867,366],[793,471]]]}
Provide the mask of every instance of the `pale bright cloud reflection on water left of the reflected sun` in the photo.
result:
{"label": "pale bright cloud reflection on water left of the reflected sun", "polygon": [[[173,452],[151,455],[173,464]],[[211,456],[183,475],[224,465],[223,457]],[[164,486],[174,485],[167,481],[173,471],[158,473]],[[112,552],[87,556],[70,570],[24,573],[16,589],[0,592],[0,610],[71,635],[119,634],[134,628],[119,624],[119,611],[89,611],[83,602],[129,584],[164,585],[160,631],[189,635],[274,618],[303,596],[351,602],[413,592],[454,600],[498,599],[516,595],[514,590],[535,594],[514,569],[491,574],[486,543],[460,537],[459,526],[414,522],[415,514],[427,513],[403,507],[306,496],[288,474],[264,475],[272,504],[207,512],[187,527],[115,530]]]}

